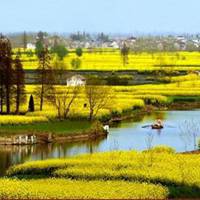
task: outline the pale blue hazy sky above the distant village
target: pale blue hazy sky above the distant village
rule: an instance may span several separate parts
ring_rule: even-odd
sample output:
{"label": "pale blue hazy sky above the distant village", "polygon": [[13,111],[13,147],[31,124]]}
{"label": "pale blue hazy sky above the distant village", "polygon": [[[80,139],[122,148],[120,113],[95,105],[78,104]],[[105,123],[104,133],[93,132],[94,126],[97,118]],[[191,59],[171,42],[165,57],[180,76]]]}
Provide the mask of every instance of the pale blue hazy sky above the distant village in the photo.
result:
{"label": "pale blue hazy sky above the distant village", "polygon": [[200,32],[200,0],[0,0],[0,32]]}

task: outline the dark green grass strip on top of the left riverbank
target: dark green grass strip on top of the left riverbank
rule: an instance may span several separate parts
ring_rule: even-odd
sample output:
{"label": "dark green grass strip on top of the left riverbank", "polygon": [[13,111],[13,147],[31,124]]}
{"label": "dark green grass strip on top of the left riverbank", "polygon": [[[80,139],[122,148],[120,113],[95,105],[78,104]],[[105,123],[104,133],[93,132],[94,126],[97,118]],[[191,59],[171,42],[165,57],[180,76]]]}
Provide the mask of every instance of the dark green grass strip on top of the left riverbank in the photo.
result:
{"label": "dark green grass strip on top of the left riverbank", "polygon": [[88,131],[91,123],[88,121],[49,121],[45,123],[24,124],[24,125],[3,125],[0,126],[0,134],[41,132],[54,134],[73,134]]}

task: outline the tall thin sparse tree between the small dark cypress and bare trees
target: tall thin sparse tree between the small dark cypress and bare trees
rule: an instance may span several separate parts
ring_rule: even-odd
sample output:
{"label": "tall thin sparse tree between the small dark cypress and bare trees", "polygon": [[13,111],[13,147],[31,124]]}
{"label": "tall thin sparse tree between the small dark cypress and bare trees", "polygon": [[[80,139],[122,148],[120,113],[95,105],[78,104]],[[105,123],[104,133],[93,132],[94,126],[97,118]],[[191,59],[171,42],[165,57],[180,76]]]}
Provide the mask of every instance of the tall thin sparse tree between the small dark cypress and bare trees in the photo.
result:
{"label": "tall thin sparse tree between the small dark cypress and bare trees", "polygon": [[37,69],[37,78],[39,87],[36,94],[40,99],[40,110],[43,109],[44,99],[51,96],[54,90],[54,74],[50,65],[51,56],[48,48],[45,47],[39,55],[39,67]]}

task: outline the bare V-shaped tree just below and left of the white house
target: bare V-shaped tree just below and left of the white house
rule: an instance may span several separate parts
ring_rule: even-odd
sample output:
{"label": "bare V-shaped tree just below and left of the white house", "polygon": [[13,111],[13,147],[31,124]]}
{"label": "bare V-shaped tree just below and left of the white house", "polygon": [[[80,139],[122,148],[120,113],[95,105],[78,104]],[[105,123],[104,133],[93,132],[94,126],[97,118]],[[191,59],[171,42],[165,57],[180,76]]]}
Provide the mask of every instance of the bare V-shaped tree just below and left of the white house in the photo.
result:
{"label": "bare V-shaped tree just below and left of the white house", "polygon": [[70,108],[80,92],[79,86],[67,87],[64,91],[56,91],[52,103],[56,107],[59,119],[67,119]]}

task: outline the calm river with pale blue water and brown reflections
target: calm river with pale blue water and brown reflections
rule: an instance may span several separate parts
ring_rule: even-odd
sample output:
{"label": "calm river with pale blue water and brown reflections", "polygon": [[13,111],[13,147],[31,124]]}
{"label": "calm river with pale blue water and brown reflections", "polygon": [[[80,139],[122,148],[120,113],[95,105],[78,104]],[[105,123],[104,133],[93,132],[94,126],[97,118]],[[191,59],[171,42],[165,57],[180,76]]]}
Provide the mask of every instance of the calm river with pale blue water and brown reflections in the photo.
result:
{"label": "calm river with pale blue water and brown reflections", "polygon": [[[158,131],[148,127],[142,128],[152,124],[157,118],[161,118],[165,122],[164,129]],[[33,146],[0,146],[0,175],[3,175],[8,167],[25,161],[62,158],[81,153],[129,149],[144,150],[155,145],[168,145],[178,152],[194,150],[193,137],[183,134],[183,130],[192,131],[198,128],[198,120],[200,121],[200,111],[157,112],[117,124],[110,129],[107,138],[96,141]],[[191,124],[192,122],[194,124]],[[189,125],[186,126],[186,124]],[[180,127],[183,129],[182,131]]]}

